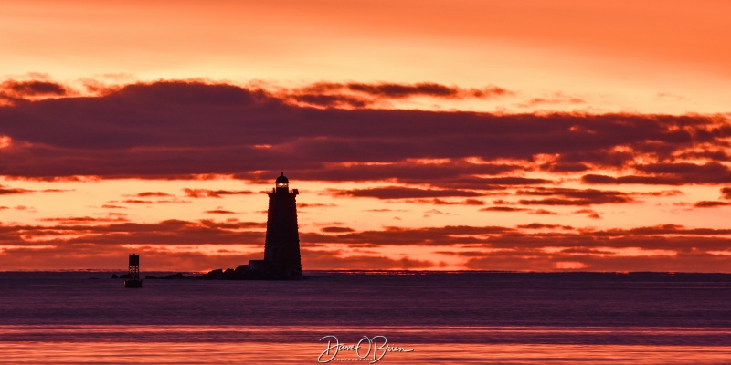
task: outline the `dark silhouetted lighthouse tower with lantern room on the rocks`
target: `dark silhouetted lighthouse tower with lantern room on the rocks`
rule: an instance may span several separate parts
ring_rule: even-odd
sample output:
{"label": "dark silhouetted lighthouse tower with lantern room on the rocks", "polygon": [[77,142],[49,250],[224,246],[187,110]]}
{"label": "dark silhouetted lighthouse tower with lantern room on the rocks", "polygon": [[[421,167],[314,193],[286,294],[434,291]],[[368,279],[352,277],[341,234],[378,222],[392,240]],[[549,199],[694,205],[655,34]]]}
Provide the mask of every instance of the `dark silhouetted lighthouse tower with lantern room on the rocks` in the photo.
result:
{"label": "dark silhouetted lighthouse tower with lantern room on the rocks", "polygon": [[297,226],[297,189],[290,191],[290,181],[281,172],[269,195],[267,240],[264,261],[273,276],[291,278],[302,275],[300,233]]}

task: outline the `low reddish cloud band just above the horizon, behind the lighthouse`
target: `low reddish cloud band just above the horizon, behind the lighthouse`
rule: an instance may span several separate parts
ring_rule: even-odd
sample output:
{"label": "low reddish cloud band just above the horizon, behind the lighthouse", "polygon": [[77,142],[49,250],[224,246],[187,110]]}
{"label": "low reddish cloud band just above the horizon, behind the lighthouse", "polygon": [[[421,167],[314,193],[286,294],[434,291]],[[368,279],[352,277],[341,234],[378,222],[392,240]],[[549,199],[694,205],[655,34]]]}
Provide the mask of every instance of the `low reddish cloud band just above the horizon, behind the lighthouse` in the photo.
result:
{"label": "low reddish cloud band just above the horizon, behind the lighthouse", "polygon": [[[214,268],[222,262],[238,265],[260,258],[265,228],[262,223],[236,219],[133,224],[123,219],[70,217],[46,223],[51,225],[4,225],[0,229],[0,256],[16,258],[6,268],[37,268],[34,265],[44,260],[58,262],[52,258],[64,255],[90,267],[100,257],[119,257],[131,242],[136,252],[145,255],[148,267],[155,269],[196,270],[202,268],[200,265]],[[387,226],[365,231],[327,226],[321,231],[301,233],[303,266],[310,269],[434,269],[441,265],[440,255],[456,257],[465,267],[480,270],[632,271],[644,267],[725,271],[731,264],[731,230],[676,224],[607,230],[539,223],[513,227]],[[217,248],[212,252],[190,249],[204,242]],[[248,248],[243,253],[228,248],[235,245]],[[407,255],[384,255],[382,251],[388,247],[397,247]],[[425,247],[437,258],[409,258],[409,252]],[[183,256],[185,260],[176,261]],[[228,258],[217,260],[217,256]],[[568,267],[566,263],[574,264]]]}

